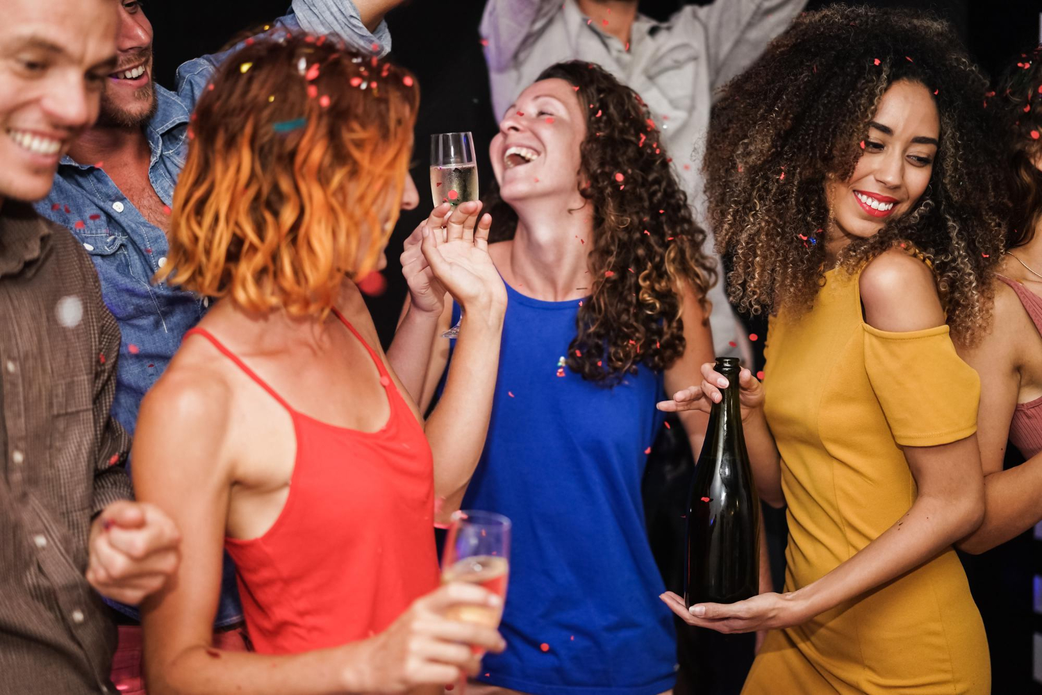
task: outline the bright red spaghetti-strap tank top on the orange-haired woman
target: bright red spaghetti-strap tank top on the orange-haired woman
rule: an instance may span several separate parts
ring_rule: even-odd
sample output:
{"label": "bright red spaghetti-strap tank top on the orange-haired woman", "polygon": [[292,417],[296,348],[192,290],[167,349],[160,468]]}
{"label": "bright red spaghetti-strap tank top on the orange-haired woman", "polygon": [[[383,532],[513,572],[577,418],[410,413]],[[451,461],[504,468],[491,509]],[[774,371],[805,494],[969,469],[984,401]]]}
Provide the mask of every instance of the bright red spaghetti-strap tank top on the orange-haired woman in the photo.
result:
{"label": "bright red spaghetti-strap tank top on the orange-haired woman", "polygon": [[379,356],[391,415],[363,432],[298,413],[214,336],[293,419],[297,454],[282,512],[259,538],[225,538],[250,639],[262,653],[333,647],[383,630],[439,584],[433,462],[423,428]]}

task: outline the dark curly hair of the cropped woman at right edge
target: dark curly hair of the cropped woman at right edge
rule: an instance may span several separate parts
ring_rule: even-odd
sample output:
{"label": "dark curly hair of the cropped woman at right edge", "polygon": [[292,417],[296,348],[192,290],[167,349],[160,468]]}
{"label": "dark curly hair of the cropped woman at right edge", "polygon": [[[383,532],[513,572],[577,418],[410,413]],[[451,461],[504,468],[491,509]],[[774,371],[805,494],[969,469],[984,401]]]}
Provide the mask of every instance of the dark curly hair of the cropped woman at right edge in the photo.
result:
{"label": "dark curly hair of the cropped woman at right edge", "polygon": [[1006,143],[1013,213],[1007,245],[1023,246],[1042,223],[1042,172],[1033,158],[1042,154],[1042,45],[1020,54],[998,82],[995,104]]}

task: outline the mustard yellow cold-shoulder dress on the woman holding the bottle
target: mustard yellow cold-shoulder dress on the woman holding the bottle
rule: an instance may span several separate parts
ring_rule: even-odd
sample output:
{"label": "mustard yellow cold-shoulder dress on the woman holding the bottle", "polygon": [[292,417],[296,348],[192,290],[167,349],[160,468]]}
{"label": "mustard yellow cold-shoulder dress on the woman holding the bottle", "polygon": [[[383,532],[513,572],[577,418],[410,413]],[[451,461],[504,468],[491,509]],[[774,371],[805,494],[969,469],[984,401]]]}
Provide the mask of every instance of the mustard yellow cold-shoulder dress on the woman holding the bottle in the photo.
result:
{"label": "mustard yellow cold-shoulder dress on the woman holding the bottle", "polygon": [[[976,430],[979,379],[948,327],[887,332],[862,318],[858,277],[825,274],[814,307],[768,331],[765,412],[788,504],[786,591],[820,578],[916,497],[902,446]],[[986,695],[988,642],[948,548],[810,622],[771,630],[743,695]]]}

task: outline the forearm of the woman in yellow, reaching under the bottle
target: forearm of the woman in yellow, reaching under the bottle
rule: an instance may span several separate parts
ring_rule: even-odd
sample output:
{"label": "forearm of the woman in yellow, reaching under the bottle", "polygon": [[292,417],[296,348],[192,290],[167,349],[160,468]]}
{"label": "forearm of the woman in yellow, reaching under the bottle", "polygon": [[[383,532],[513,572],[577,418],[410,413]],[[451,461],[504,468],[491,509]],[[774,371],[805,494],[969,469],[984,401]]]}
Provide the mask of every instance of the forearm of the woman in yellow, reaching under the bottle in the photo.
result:
{"label": "forearm of the woman in yellow, reaching under the bottle", "polygon": [[979,522],[972,500],[919,497],[883,535],[832,572],[789,594],[807,618],[836,607],[922,565]]}

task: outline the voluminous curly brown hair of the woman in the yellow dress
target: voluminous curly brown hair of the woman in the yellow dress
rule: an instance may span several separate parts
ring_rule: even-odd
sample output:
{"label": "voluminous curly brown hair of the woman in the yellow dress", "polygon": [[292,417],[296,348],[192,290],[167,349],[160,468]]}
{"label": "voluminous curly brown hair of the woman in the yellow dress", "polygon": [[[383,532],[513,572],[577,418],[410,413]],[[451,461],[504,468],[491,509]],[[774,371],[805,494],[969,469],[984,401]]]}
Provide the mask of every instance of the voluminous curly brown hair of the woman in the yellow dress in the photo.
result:
{"label": "voluminous curly brown hair of the woman in the yellow dress", "polygon": [[911,242],[933,260],[952,334],[971,343],[985,329],[1008,210],[988,81],[947,22],[909,9],[805,13],[723,88],[703,169],[741,309],[811,307],[824,282],[825,245],[815,242],[829,219],[826,178],[852,175],[868,123],[898,80],[934,94],[941,138],[931,181],[908,214],[852,242],[839,263],[855,273]]}

